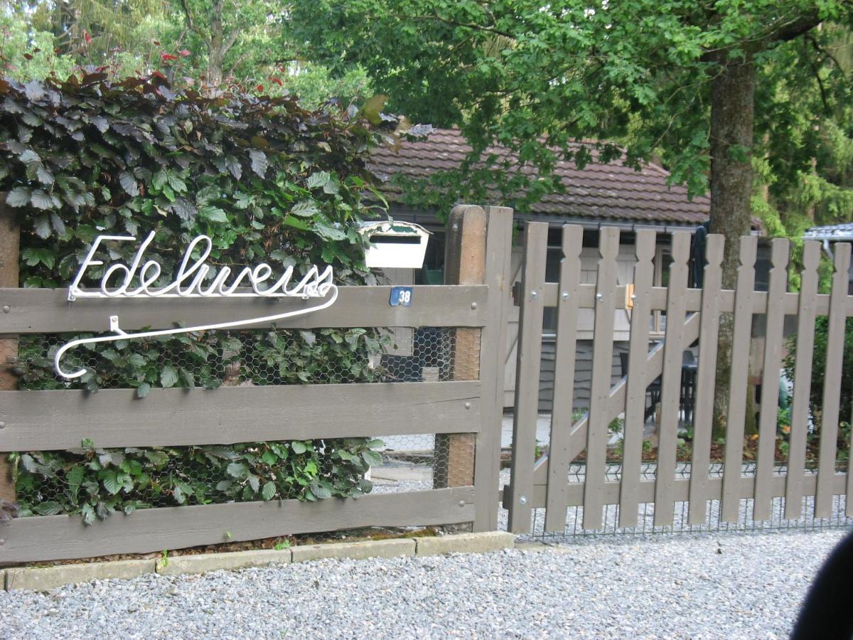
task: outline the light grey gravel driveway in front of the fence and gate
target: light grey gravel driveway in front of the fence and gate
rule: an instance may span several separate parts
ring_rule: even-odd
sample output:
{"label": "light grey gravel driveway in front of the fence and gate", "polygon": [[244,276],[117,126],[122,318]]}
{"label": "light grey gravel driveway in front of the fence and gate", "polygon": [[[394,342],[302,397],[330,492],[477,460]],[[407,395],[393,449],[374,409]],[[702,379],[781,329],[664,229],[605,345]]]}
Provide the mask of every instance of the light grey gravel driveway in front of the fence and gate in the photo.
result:
{"label": "light grey gravel driveway in front of the fence and gate", "polygon": [[0,591],[0,637],[785,637],[843,535],[595,538]]}

